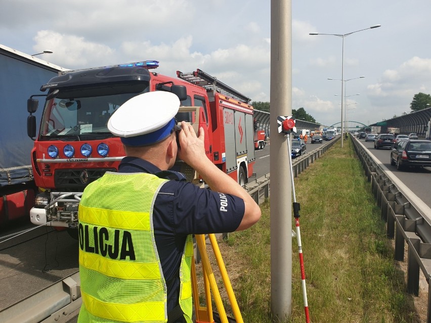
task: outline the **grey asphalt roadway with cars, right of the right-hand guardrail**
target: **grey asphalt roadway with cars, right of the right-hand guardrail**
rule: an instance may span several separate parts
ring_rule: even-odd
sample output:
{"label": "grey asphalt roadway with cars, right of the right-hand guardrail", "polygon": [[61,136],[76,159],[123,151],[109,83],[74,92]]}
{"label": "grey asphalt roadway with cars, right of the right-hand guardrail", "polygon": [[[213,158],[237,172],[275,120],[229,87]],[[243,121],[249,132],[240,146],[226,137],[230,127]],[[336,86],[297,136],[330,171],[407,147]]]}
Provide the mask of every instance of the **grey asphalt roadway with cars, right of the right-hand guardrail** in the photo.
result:
{"label": "grey asphalt roadway with cars, right of the right-hand guardrail", "polygon": [[391,165],[391,149],[381,148],[374,149],[373,142],[365,142],[363,139],[360,140],[369,152],[376,157],[388,171],[392,172],[397,176],[407,188],[409,188],[419,199],[423,201],[428,207],[431,207],[431,199],[429,198],[429,192],[431,192],[431,168],[424,167],[419,169],[404,169],[397,170],[397,166]]}

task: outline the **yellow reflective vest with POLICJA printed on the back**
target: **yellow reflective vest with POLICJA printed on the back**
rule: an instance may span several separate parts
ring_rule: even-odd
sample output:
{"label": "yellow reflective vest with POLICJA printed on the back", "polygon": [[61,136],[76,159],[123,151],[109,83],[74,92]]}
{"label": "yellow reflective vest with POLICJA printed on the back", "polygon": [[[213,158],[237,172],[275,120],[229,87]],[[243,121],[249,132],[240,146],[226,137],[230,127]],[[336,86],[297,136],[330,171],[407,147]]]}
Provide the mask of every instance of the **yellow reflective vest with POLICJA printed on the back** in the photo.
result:
{"label": "yellow reflective vest with POLICJA printed on the back", "polygon": [[[154,240],[153,206],[166,179],[107,172],[79,204],[78,322],[166,322],[166,283]],[[180,268],[180,306],[191,323],[192,238]]]}

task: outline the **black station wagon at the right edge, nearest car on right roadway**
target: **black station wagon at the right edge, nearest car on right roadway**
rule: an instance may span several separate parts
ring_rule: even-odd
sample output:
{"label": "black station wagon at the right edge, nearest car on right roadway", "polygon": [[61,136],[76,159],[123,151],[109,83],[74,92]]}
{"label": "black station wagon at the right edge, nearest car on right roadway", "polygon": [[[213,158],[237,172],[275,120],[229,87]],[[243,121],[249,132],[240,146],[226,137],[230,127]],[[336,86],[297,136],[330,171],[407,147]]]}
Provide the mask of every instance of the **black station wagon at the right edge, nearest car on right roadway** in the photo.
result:
{"label": "black station wagon at the right edge, nearest car on right roadway", "polygon": [[431,141],[400,140],[391,151],[391,165],[397,165],[398,170],[431,166]]}

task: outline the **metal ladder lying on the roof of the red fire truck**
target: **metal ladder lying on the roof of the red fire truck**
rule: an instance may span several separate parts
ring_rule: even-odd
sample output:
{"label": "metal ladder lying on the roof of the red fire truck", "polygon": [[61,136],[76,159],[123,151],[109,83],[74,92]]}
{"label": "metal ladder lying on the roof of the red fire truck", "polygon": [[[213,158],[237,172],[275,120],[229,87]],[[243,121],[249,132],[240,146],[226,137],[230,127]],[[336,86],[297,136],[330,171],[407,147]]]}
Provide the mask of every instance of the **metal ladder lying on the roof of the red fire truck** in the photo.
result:
{"label": "metal ladder lying on the roof of the red fire truck", "polygon": [[225,83],[217,80],[217,77],[213,77],[200,69],[194,72],[183,73],[177,71],[177,76],[183,80],[186,80],[192,84],[196,84],[204,87],[207,91],[217,91],[218,93],[230,97],[232,99],[244,102],[248,104],[251,99],[234,90],[232,87],[226,85]]}

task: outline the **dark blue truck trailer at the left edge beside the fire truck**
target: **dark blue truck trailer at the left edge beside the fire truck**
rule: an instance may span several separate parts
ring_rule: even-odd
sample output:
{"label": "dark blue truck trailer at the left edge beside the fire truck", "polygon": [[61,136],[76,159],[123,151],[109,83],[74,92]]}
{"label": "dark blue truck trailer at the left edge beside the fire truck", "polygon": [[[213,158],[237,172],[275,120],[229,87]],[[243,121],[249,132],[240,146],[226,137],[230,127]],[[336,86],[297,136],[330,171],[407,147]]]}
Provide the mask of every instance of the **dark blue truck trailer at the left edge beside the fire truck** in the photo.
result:
{"label": "dark blue truck trailer at the left edge beside the fire truck", "polygon": [[61,70],[66,69],[0,44],[0,226],[28,218],[34,204],[27,99]]}

